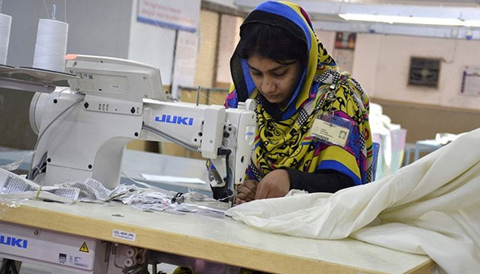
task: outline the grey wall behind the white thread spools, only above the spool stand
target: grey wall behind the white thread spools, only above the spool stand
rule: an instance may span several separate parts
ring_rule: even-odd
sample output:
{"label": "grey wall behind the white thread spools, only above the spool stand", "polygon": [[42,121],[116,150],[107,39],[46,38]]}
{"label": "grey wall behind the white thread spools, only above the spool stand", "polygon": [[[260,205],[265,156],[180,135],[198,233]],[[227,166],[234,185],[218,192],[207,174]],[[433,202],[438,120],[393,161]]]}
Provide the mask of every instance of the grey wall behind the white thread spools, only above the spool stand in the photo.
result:
{"label": "grey wall behind the white thread spools, only above the spool stand", "polygon": [[[57,19],[65,20],[64,0],[45,3],[48,16],[56,4]],[[67,53],[127,58],[131,6],[131,0],[68,1]],[[7,64],[32,66],[38,19],[47,18],[43,1],[3,0],[2,13],[12,16]]]}

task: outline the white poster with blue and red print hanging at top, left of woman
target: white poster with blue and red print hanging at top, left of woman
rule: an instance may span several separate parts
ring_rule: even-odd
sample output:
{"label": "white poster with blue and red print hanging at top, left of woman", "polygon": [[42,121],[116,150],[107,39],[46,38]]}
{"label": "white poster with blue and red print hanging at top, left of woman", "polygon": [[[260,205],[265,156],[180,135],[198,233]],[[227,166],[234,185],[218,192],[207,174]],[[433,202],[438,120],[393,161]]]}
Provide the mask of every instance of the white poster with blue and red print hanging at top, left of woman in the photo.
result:
{"label": "white poster with blue and red print hanging at top, left of woman", "polygon": [[196,32],[200,19],[200,0],[139,0],[136,21]]}

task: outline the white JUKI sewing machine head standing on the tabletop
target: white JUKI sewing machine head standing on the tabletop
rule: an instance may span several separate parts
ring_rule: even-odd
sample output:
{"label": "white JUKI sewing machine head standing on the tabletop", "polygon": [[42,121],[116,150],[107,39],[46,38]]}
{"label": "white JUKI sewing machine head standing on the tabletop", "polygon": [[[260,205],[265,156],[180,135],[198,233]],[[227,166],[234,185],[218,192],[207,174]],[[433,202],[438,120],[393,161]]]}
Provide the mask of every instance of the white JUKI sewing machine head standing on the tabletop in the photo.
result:
{"label": "white JUKI sewing machine head standing on the tabletop", "polygon": [[238,109],[172,101],[158,68],[129,60],[67,55],[66,69],[77,75],[70,88],[36,93],[30,105],[38,134],[30,179],[52,185],[92,177],[115,188],[125,145],[141,139],[201,152],[219,171],[214,188],[230,192],[243,182],[256,127],[254,101]]}

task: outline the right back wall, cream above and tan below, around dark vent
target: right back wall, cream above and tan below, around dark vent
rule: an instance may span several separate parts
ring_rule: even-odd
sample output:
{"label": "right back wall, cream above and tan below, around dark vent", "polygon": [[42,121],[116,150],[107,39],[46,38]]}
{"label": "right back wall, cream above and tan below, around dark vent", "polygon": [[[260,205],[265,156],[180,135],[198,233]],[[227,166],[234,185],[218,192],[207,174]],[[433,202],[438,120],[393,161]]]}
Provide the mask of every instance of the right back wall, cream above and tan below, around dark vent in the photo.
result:
{"label": "right back wall, cream above and tan below, around dark vent", "polygon": [[[407,129],[407,142],[432,139],[480,127],[480,97],[459,95],[464,66],[480,64],[479,51],[479,41],[357,34],[352,75]],[[438,89],[407,85],[411,56],[442,58]]]}

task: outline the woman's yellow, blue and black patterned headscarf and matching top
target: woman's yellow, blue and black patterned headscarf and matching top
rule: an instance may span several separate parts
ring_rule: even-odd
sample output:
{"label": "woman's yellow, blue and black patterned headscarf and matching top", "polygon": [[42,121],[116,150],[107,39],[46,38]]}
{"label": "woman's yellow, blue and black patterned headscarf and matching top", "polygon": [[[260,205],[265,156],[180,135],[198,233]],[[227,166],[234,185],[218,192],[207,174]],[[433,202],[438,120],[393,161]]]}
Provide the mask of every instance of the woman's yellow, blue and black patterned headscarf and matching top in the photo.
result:
{"label": "woman's yellow, blue and black patterned headscarf and matching top", "polygon": [[[287,108],[276,108],[273,113],[272,104],[254,86],[246,60],[241,59],[237,51],[232,56],[230,67],[235,86],[226,99],[226,106],[237,108],[239,101],[248,98],[256,99],[257,103],[258,128],[247,177],[260,181],[270,171],[287,167],[308,173],[333,169],[352,178],[355,184],[371,182],[368,95],[348,73],[338,72],[335,60],[315,35],[307,12],[294,3],[267,1],[250,12],[243,25],[248,23],[265,23],[287,29],[305,42],[309,60]],[[325,99],[331,87],[336,95],[334,101]],[[334,116],[355,122],[345,147],[311,137],[313,121],[327,109]]]}

